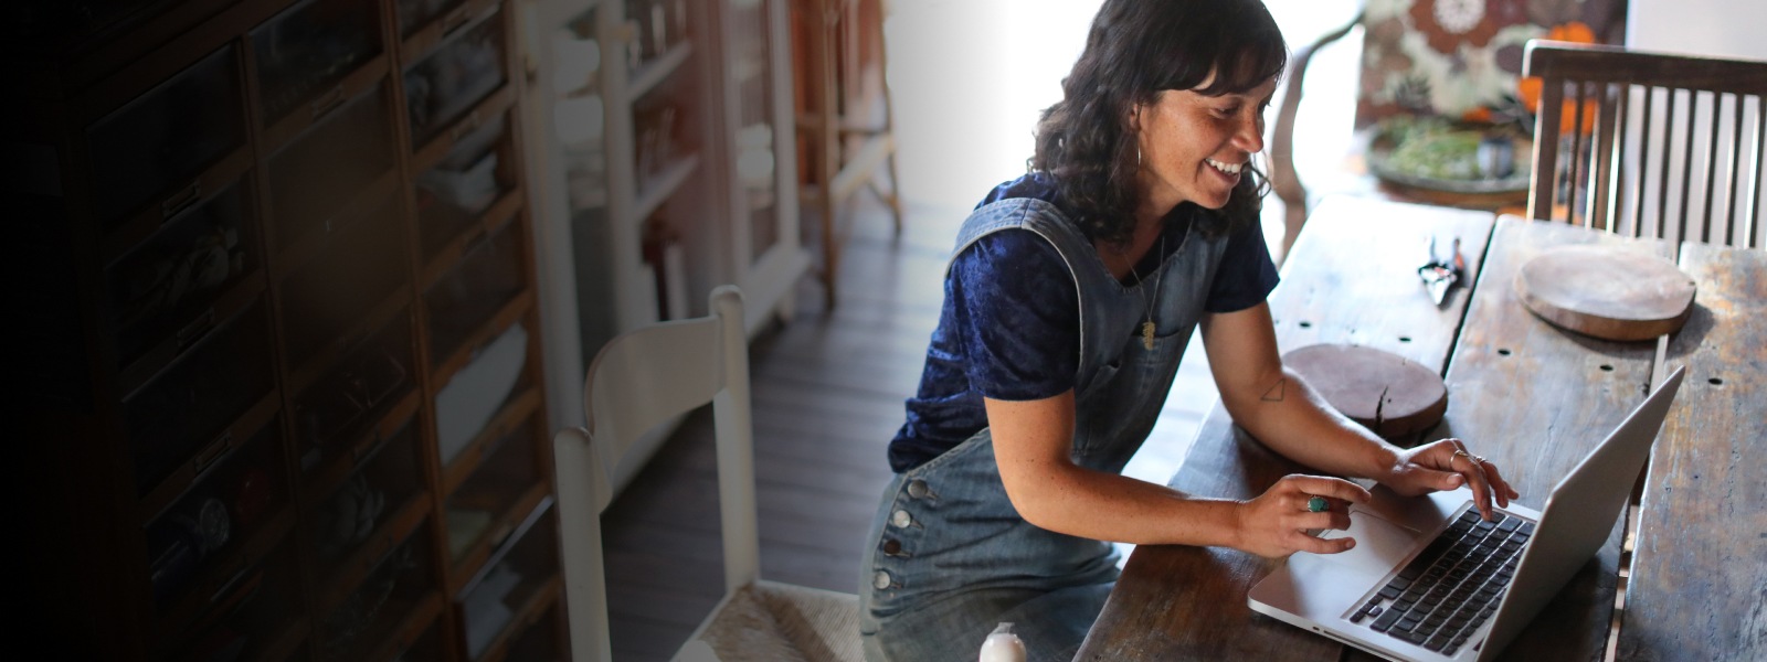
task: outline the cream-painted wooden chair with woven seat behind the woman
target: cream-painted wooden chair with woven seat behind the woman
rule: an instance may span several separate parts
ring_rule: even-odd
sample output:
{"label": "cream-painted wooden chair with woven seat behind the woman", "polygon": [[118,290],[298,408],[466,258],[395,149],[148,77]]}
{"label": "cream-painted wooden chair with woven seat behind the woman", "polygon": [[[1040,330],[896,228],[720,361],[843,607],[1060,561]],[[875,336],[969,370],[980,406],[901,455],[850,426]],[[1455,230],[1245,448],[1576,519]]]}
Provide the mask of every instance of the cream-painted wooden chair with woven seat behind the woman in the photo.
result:
{"label": "cream-painted wooden chair with woven seat behind the woman", "polygon": [[613,658],[601,554],[611,470],[641,434],[712,402],[724,598],[675,658],[859,660],[855,595],[760,579],[742,291],[717,288],[710,311],[707,318],[656,323],[608,342],[588,367],[588,429],[564,429],[553,438],[573,658]]}

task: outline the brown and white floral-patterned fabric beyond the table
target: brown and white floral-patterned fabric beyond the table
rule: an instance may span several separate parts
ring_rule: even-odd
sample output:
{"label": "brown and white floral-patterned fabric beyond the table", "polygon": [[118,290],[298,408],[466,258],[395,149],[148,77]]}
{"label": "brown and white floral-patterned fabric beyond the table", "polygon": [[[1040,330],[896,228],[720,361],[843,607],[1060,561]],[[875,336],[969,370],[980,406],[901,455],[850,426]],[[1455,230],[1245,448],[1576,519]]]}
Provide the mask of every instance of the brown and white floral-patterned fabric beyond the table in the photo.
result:
{"label": "brown and white floral-patterned fabric beyond the table", "polygon": [[1355,125],[1396,113],[1509,122],[1528,39],[1620,42],[1626,0],[1368,0]]}

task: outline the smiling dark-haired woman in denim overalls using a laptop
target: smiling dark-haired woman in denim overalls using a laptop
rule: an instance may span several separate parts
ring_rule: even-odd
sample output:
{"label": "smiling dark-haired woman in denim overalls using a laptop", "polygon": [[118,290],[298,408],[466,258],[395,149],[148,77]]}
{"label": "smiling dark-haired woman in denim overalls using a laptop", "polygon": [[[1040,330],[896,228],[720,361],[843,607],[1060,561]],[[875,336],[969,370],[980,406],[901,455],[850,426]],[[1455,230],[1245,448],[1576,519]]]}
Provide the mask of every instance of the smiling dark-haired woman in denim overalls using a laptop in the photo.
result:
{"label": "smiling dark-haired woman in denim overalls using a laptop", "polygon": [[[998,621],[1067,660],[1104,540],[1339,553],[1362,487],[1293,475],[1248,501],[1122,477],[1202,323],[1233,420],[1276,452],[1405,494],[1516,493],[1458,440],[1412,450],[1331,411],[1276,351],[1258,228],[1263,108],[1286,46],[1258,0],[1104,0],[1044,111],[1030,175],[965,221],[919,394],[891,441],[861,586],[871,660],[974,660]],[[1308,501],[1325,496],[1325,512]]]}

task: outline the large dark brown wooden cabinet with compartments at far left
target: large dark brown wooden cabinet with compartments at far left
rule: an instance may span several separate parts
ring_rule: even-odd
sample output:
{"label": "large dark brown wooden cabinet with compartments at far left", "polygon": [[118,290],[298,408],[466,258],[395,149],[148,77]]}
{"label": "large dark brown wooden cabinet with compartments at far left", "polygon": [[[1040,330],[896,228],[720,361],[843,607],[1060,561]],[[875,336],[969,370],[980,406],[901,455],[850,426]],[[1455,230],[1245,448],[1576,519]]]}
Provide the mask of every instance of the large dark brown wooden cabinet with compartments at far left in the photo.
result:
{"label": "large dark brown wooden cabinet with compartments at far left", "polygon": [[565,650],[512,2],[27,2],[34,650]]}

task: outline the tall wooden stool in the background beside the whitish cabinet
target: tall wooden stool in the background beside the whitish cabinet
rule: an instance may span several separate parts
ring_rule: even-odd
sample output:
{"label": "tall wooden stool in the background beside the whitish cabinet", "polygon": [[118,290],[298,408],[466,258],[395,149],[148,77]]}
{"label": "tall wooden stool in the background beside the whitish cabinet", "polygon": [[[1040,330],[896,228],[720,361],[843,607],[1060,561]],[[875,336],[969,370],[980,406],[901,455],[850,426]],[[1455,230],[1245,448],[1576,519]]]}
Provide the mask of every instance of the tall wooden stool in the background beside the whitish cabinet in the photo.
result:
{"label": "tall wooden stool in the background beside the whitish cabinet", "polygon": [[[792,35],[799,162],[808,178],[799,198],[820,214],[823,297],[834,309],[841,245],[850,229],[836,219],[841,203],[864,184],[889,205],[901,237],[882,0],[792,0]],[[873,106],[876,101],[882,108]],[[873,111],[882,118],[873,118]],[[878,187],[878,166],[889,168],[889,191]]]}

